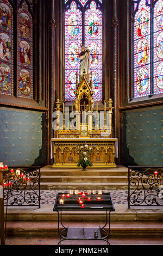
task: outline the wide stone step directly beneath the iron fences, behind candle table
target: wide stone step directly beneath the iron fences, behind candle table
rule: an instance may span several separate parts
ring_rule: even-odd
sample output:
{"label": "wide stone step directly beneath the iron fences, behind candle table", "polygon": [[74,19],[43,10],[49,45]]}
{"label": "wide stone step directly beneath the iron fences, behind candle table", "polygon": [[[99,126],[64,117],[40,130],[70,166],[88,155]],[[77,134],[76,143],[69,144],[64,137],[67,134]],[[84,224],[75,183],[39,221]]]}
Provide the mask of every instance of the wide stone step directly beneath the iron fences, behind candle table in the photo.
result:
{"label": "wide stone step directly beneath the iron fences, behind candle table", "polygon": [[[113,196],[113,194],[112,194]],[[52,200],[53,201],[53,200]],[[55,202],[55,198],[54,198]],[[57,221],[58,214],[53,211],[54,202],[41,204],[41,208],[30,206],[29,208],[20,208],[19,206],[8,207],[7,221]],[[163,209],[158,206],[153,206],[151,209],[145,208],[130,208],[128,204],[115,204],[115,211],[111,212],[111,221],[162,221]],[[5,210],[4,210],[5,219]],[[105,211],[64,211],[62,212],[63,221],[96,221],[105,222]],[[162,222],[163,223],[163,222]]]}

